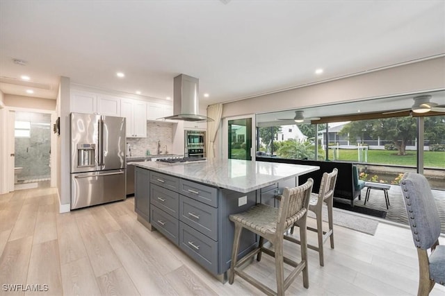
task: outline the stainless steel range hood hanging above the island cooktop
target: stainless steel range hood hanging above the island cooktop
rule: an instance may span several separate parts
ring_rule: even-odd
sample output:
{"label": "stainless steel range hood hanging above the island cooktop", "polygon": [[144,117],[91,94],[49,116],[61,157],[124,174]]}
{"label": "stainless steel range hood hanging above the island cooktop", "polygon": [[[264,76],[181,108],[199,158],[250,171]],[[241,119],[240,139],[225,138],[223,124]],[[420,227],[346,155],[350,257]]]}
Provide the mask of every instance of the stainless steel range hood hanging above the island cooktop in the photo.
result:
{"label": "stainless steel range hood hanging above the island cooktop", "polygon": [[213,121],[213,119],[200,115],[198,92],[200,80],[180,74],[173,82],[173,114],[164,119],[183,121]]}

